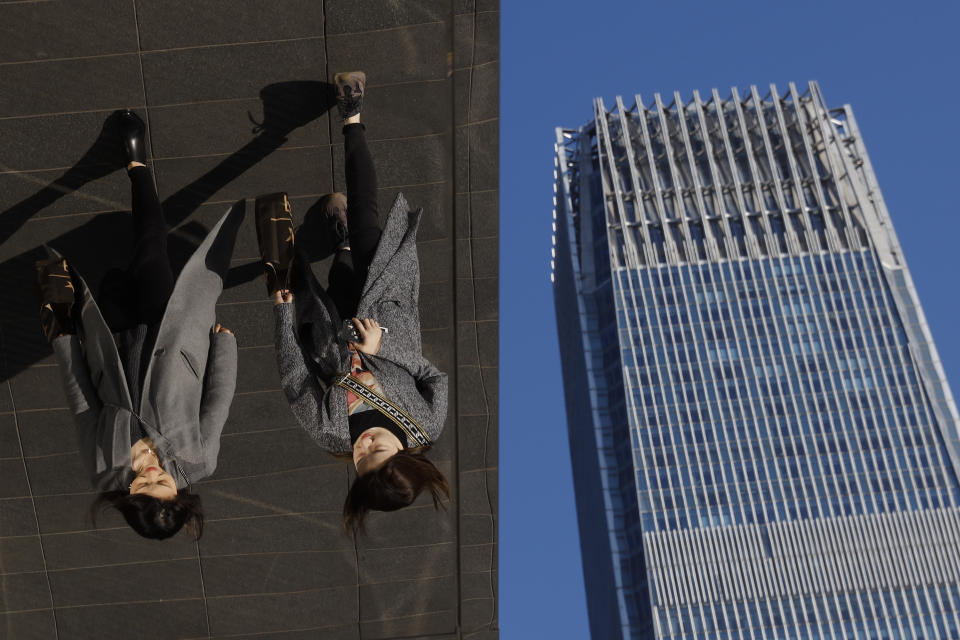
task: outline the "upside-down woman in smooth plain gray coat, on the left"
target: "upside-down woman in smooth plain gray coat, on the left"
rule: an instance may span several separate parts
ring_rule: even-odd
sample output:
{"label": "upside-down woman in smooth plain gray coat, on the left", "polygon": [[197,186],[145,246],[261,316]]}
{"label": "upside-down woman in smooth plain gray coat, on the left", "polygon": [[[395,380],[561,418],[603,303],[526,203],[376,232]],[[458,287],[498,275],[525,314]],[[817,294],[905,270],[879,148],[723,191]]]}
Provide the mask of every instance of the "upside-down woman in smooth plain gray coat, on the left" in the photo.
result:
{"label": "upside-down woman in smooth plain gray coat, on the left", "polygon": [[94,518],[113,505],[142,536],[168,538],[187,526],[199,537],[200,498],[189,488],[216,468],[236,386],[236,340],[214,311],[243,211],[217,223],[174,281],[143,121],[130,111],[117,121],[133,194],[133,261],[107,273],[98,304],[51,251],[37,265],[41,324],[101,492]]}

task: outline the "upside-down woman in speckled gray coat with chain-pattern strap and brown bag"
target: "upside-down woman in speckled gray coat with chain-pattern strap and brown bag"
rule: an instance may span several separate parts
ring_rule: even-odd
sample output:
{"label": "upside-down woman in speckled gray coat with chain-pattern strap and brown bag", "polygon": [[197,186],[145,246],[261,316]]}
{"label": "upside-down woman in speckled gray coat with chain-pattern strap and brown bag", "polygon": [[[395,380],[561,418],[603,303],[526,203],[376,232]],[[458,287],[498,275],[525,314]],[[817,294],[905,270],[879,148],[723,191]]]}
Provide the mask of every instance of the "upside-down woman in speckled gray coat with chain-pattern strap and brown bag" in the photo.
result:
{"label": "upside-down woman in speckled gray coat with chain-pattern strap and brown bag", "polygon": [[[327,197],[339,246],[326,290],[293,251],[284,194],[257,199],[257,231],[274,301],[277,362],[297,420],[319,446],[352,457],[357,479],[344,526],[366,513],[408,506],[422,491],[434,504],[449,484],[424,453],[447,415],[447,376],[423,357],[416,234],[422,211],[398,195],[381,230],[377,183],[360,107],[366,77],[338,74],[347,196]],[[349,206],[348,206],[349,203]]]}

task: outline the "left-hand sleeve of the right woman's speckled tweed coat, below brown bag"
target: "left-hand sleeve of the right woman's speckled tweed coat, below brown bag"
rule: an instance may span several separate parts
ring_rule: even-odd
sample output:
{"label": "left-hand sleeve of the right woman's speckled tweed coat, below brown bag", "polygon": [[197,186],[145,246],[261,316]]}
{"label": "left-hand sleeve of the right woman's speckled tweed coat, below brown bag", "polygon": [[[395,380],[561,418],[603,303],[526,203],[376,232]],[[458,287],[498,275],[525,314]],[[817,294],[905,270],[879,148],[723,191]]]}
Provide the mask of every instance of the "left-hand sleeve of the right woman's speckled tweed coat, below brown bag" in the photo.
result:
{"label": "left-hand sleeve of the right woman's speckled tweed coat, below brown bag", "polygon": [[318,442],[323,441],[324,425],[329,420],[330,390],[324,390],[307,366],[303,350],[294,332],[293,305],[274,305],[274,340],[280,386],[297,422]]}

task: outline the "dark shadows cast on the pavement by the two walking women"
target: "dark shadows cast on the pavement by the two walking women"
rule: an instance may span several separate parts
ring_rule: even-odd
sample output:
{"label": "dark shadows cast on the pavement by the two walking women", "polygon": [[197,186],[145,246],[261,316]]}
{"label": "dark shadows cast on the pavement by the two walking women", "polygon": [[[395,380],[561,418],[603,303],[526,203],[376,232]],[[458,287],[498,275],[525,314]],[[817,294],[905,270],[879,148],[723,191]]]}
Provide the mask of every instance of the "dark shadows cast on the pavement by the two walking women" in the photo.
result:
{"label": "dark shadows cast on the pavement by the two walking women", "polygon": [[[320,117],[336,104],[333,85],[316,81],[267,85],[260,90],[260,99],[263,101],[264,117],[263,122],[254,121],[256,136],[162,202],[167,224],[171,228],[186,220],[225,185],[279,149],[294,129]],[[96,140],[73,167],[33,195],[0,213],[0,243],[7,241],[44,208],[124,165],[114,118],[111,115],[106,119]],[[108,270],[122,268],[129,262],[133,238],[130,227],[128,213],[102,213],[76,229],[47,240],[46,244],[68,258],[99,253],[102,259],[83,266],[85,279],[96,291]],[[174,273],[179,273],[206,231],[200,223],[190,222],[170,234],[168,247]],[[123,249],[114,250],[114,247]],[[311,250],[315,258],[322,253],[320,247]],[[50,347],[40,333],[39,298],[34,284],[34,263],[44,257],[46,251],[42,244],[37,244],[0,263],[0,282],[3,283],[0,287],[0,346],[6,356],[0,381],[10,379],[50,354]],[[228,273],[225,286],[240,284],[260,275],[261,268],[257,263],[235,267]]]}

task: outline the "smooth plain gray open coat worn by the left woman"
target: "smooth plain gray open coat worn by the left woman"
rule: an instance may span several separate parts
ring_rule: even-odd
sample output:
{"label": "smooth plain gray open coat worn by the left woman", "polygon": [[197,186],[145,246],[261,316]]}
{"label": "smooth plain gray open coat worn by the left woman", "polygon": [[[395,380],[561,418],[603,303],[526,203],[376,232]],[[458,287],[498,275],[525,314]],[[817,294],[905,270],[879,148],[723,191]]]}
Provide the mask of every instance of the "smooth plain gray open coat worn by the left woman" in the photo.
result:
{"label": "smooth plain gray open coat worn by the left woman", "polygon": [[132,405],[113,334],[89,287],[73,271],[82,289],[80,322],[76,335],[53,341],[53,351],[80,455],[98,490],[126,489],[131,429],[138,413],[178,488],[216,469],[220,433],[236,386],[237,343],[232,335],[212,329],[242,218],[241,202],[214,226],[177,278],[147,365],[139,408]]}

